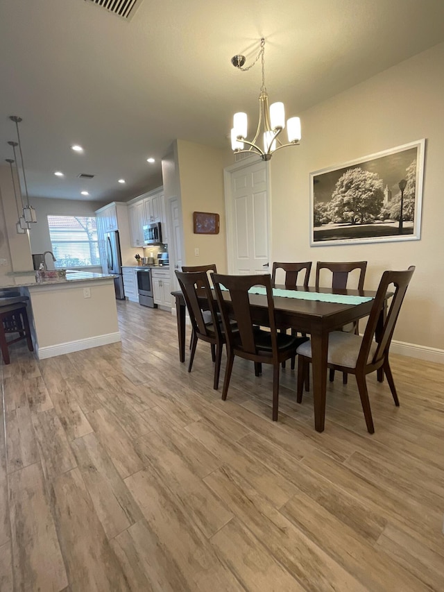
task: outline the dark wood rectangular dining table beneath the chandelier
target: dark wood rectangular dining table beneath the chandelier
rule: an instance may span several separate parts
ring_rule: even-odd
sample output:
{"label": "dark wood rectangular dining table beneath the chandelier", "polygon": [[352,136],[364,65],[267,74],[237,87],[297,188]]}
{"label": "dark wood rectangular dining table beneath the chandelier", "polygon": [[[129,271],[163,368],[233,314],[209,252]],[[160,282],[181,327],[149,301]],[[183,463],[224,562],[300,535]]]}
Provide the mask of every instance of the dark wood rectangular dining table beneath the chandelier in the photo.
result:
{"label": "dark wood rectangular dining table beneath the chandelier", "polygon": [[[277,288],[288,289],[285,286]],[[328,334],[339,330],[344,325],[362,319],[370,314],[375,291],[369,290],[334,290],[329,288],[296,287],[297,291],[322,292],[323,294],[345,294],[350,296],[367,296],[369,301],[359,304],[339,304],[316,300],[302,300],[273,296],[275,305],[276,324],[280,327],[294,328],[305,332],[311,339],[311,362],[313,371],[313,399],[314,399],[314,427],[323,432],[325,423],[325,396],[327,392],[327,350]],[[185,362],[185,300],[181,291],[173,291],[176,298],[176,313],[178,321],[179,359]],[[390,296],[389,294],[387,296]],[[253,321],[258,325],[266,325],[267,304],[266,296],[250,294],[250,305]],[[377,336],[384,322],[384,311],[379,321]],[[378,371],[379,382],[384,380],[383,371]]]}

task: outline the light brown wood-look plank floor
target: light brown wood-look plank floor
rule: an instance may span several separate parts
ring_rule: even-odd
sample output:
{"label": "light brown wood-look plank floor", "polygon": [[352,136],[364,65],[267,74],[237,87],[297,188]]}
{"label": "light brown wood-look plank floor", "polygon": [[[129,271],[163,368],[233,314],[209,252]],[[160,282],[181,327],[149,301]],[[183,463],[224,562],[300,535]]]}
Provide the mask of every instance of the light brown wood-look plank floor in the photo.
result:
{"label": "light brown wood-look plank floor", "polygon": [[393,355],[399,409],[371,375],[373,436],[337,375],[318,434],[289,364],[273,423],[266,366],[223,402],[207,344],[189,374],[118,310],[121,344],[0,367],[1,592],[444,590],[444,366]]}

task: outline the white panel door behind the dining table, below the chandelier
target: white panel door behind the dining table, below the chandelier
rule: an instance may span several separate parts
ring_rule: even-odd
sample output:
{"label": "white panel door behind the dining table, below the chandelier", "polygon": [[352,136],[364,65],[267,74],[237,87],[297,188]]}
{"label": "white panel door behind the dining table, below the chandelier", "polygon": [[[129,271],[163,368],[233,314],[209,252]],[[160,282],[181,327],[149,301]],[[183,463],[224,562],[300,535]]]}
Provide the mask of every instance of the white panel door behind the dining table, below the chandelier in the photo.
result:
{"label": "white panel door behind the dining table, below the chandelier", "polygon": [[231,173],[233,273],[269,273],[268,183],[265,162],[255,162]]}

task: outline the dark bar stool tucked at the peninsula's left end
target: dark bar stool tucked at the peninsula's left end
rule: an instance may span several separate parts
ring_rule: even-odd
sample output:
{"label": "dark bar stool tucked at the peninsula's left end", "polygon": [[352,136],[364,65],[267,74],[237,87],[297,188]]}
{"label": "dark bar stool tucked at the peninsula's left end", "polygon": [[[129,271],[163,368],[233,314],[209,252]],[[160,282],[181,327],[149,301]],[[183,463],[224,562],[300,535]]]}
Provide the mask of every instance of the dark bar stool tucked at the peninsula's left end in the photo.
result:
{"label": "dark bar stool tucked at the peninsula's left end", "polygon": [[[34,350],[26,311],[28,299],[27,296],[0,298],[0,350],[5,364],[10,364],[8,347],[17,341],[26,339],[28,350]],[[7,341],[6,335],[10,333],[18,333],[19,336]]]}

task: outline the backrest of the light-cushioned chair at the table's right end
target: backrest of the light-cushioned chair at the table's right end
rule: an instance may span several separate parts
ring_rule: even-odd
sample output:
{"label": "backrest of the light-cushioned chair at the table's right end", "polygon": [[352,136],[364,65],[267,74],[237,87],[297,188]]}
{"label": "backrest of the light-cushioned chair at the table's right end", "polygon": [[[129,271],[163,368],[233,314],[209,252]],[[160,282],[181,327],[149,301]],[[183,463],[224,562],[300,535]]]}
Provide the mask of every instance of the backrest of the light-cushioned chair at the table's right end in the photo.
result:
{"label": "backrest of the light-cushioned chair at the table's right end", "polygon": [[394,294],[393,297],[391,297],[391,301],[387,304],[384,325],[379,335],[379,343],[375,355],[373,356],[373,364],[377,364],[381,360],[384,360],[391,344],[391,338],[393,336],[393,331],[395,330],[396,321],[398,321],[402,301],[404,301],[404,296],[407,287],[409,286],[411,276],[413,276],[413,271],[415,271],[415,266],[411,265],[407,271],[384,271],[382,274],[375,300],[373,301],[372,310],[368,317],[366,330],[362,337],[362,345],[357,359],[357,366],[366,366],[367,364],[368,353],[370,351],[373,337],[375,337],[380,313],[386,302],[386,294],[391,285],[393,285]]}

